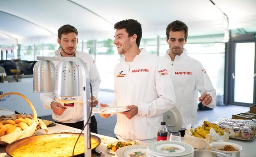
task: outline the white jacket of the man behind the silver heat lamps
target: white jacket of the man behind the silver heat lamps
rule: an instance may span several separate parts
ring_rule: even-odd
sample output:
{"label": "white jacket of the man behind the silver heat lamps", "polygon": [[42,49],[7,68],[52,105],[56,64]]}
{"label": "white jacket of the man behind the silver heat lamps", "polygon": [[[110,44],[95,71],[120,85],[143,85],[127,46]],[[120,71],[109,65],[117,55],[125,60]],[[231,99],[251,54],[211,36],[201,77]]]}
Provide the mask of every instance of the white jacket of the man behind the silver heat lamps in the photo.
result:
{"label": "white jacket of the man behind the silver heat lamps", "polygon": [[[60,57],[61,56],[60,52],[61,52],[61,49],[56,50],[55,56]],[[98,69],[95,65],[93,57],[89,53],[80,52],[77,50],[75,51],[75,57],[80,57],[87,65],[87,69],[89,72],[89,81],[92,87],[92,94],[97,98],[98,92],[100,90],[101,78],[98,73]],[[57,63],[59,63],[59,61],[54,61],[55,66],[57,65]],[[80,84],[82,84],[82,75],[80,74],[79,77],[80,77]],[[87,87],[87,89],[90,90],[90,87]],[[80,93],[83,93],[82,85],[80,85]],[[55,98],[52,92],[40,93],[40,99],[43,102],[43,107],[45,109],[51,109],[50,103],[55,101]],[[82,96],[78,96],[77,101],[80,101],[80,100],[83,100]],[[63,103],[61,104],[63,105]],[[80,122],[84,120],[83,115],[84,115],[83,103],[74,103],[74,106],[67,106],[66,111],[64,111],[62,115],[55,115],[53,113],[53,119],[62,123],[75,123],[75,122]],[[92,115],[94,115],[94,113],[92,113]]]}

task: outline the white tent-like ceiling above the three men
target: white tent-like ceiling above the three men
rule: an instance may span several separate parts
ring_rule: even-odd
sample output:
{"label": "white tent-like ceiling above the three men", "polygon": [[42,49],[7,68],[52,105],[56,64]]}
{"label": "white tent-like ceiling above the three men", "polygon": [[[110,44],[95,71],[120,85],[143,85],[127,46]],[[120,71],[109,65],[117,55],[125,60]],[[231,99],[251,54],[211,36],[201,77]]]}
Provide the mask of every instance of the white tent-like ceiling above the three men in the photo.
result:
{"label": "white tent-like ceiling above the three men", "polygon": [[[216,6],[212,3],[214,2]],[[256,0],[0,0],[0,45],[57,40],[64,24],[78,29],[79,39],[113,38],[114,23],[135,19],[143,37],[165,37],[174,20],[189,27],[189,36],[224,33],[229,29],[256,32]],[[219,9],[222,11],[219,11]]]}

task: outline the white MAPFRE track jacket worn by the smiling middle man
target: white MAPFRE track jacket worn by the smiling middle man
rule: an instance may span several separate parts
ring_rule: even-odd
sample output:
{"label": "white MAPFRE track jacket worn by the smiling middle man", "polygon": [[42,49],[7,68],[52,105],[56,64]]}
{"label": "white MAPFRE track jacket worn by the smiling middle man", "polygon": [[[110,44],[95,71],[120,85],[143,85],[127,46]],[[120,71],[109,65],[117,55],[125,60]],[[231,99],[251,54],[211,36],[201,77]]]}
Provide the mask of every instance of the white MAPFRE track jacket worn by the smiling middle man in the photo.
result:
{"label": "white MAPFRE track jacket worn by the smiling middle man", "polygon": [[138,114],[128,119],[117,114],[114,133],[120,140],[148,144],[157,141],[162,114],[174,107],[175,95],[165,64],[141,49],[133,62],[124,56],[114,69],[115,99],[109,106],[138,106]]}

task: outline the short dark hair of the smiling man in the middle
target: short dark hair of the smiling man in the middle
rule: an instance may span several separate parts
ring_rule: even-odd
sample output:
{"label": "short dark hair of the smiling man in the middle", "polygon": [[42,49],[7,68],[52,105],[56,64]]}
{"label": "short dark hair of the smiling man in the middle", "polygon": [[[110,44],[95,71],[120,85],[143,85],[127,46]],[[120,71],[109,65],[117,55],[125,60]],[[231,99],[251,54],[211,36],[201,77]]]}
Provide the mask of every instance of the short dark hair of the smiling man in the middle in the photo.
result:
{"label": "short dark hair of the smiling man in the middle", "polygon": [[126,29],[128,36],[137,35],[136,44],[139,47],[140,40],[142,38],[142,25],[133,19],[126,19],[114,24],[114,29]]}

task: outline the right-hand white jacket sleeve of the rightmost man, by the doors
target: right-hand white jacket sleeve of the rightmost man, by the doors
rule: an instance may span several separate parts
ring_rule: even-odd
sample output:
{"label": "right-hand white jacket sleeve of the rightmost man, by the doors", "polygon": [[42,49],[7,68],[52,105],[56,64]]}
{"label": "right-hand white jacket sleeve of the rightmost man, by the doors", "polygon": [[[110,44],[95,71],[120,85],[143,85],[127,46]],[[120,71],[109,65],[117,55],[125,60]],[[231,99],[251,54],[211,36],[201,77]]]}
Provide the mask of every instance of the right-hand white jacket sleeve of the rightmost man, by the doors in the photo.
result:
{"label": "right-hand white jacket sleeve of the rightmost man, by the doors", "polygon": [[208,104],[207,107],[215,108],[216,90],[213,87],[210,77],[208,76],[206,70],[203,68],[203,65],[201,63],[199,63],[199,66],[197,67],[196,71],[197,71],[196,88],[201,94],[207,93],[211,95],[213,101],[210,104]]}

